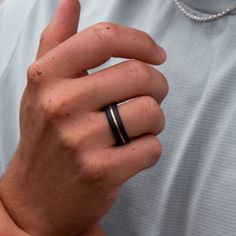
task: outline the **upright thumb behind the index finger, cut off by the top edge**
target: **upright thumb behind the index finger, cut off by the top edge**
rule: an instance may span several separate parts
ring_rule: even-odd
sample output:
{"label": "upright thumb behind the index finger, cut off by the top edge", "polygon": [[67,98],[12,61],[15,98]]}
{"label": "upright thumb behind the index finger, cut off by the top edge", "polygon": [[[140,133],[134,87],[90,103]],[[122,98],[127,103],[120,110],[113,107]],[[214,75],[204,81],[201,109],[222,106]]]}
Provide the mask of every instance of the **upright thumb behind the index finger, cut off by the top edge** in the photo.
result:
{"label": "upright thumb behind the index finger, cut off by the top edge", "polygon": [[43,31],[37,59],[76,34],[80,15],[78,0],[61,0],[56,13]]}

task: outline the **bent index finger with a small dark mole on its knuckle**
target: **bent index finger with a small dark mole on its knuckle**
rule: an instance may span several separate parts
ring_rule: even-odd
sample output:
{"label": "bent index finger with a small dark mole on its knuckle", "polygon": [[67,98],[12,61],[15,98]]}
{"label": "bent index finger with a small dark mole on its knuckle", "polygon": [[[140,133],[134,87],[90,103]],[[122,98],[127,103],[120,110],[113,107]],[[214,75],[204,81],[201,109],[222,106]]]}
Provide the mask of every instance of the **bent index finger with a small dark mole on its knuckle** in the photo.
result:
{"label": "bent index finger with a small dark mole on its knuckle", "polygon": [[99,23],[72,36],[39,61],[53,76],[75,77],[111,57],[161,64],[164,49],[145,32],[114,23]]}

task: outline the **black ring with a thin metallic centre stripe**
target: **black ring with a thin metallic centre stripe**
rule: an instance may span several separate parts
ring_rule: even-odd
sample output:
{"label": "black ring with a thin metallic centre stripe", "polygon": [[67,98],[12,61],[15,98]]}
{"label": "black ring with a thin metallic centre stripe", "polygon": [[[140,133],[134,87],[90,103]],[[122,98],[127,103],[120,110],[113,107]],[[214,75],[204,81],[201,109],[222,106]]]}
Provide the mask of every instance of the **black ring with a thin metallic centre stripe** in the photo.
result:
{"label": "black ring with a thin metallic centre stripe", "polygon": [[[111,104],[104,108],[106,116],[116,140],[116,145],[121,146],[130,142],[127,132],[121,120],[117,105]],[[112,110],[112,111],[111,111]],[[113,113],[113,114],[112,114]]]}

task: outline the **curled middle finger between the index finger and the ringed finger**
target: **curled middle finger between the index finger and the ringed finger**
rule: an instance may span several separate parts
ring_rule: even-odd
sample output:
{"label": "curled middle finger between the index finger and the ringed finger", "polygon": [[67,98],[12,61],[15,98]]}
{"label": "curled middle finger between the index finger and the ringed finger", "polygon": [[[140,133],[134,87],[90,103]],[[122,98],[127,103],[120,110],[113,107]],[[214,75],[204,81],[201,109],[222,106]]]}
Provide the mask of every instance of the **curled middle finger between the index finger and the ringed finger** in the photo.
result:
{"label": "curled middle finger between the index finger and the ringed finger", "polygon": [[68,88],[73,100],[86,102],[89,111],[99,111],[111,103],[144,95],[161,103],[168,93],[165,77],[153,67],[136,60],[71,80]]}

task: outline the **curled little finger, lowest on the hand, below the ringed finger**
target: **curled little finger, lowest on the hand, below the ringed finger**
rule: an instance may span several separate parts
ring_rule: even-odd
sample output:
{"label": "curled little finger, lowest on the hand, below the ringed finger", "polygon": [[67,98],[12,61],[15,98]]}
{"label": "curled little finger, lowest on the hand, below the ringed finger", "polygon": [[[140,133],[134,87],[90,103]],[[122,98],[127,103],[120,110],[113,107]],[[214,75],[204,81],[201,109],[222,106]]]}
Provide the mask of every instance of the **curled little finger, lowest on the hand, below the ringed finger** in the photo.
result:
{"label": "curled little finger, lowest on the hand, below the ringed finger", "polygon": [[119,185],[154,166],[161,157],[162,147],[157,137],[150,134],[132,140],[124,146],[109,148],[108,152],[104,161],[109,166],[112,182]]}

